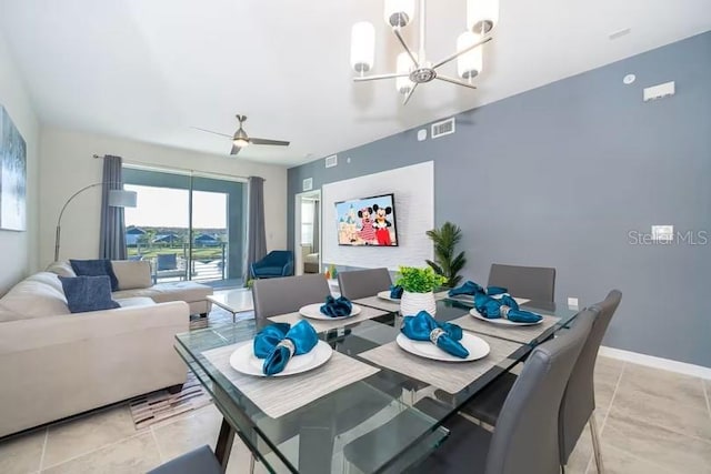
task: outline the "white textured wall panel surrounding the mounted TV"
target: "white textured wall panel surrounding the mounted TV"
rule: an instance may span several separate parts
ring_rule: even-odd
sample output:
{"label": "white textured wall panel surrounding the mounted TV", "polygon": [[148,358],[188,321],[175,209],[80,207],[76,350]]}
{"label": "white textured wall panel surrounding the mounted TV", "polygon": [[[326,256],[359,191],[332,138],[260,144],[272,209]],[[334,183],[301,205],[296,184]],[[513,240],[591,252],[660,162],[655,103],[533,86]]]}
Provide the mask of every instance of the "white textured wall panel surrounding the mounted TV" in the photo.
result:
{"label": "white textured wall panel surrounding the mounted TV", "polygon": [[[334,203],[388,193],[395,198],[398,246],[339,245]],[[423,266],[425,259],[432,260],[432,241],[425,232],[434,228],[434,162],[324,184],[322,196],[322,262],[398,270],[400,265]]]}

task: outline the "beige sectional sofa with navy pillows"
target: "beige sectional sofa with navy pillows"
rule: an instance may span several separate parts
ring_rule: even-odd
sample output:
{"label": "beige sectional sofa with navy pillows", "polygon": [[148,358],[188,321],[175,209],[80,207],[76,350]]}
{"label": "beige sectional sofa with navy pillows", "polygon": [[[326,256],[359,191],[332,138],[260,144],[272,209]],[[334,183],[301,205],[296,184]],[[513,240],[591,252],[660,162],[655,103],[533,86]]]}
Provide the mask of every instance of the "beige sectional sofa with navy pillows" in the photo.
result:
{"label": "beige sectional sofa with navy pillows", "polygon": [[[140,272],[117,273],[132,286]],[[209,305],[189,289],[189,303],[157,303],[169,292],[153,290],[152,299],[114,292],[121,307],[72,314],[57,274],[40,272],[0,299],[0,437],[182,384],[174,335],[188,331],[191,307]]]}

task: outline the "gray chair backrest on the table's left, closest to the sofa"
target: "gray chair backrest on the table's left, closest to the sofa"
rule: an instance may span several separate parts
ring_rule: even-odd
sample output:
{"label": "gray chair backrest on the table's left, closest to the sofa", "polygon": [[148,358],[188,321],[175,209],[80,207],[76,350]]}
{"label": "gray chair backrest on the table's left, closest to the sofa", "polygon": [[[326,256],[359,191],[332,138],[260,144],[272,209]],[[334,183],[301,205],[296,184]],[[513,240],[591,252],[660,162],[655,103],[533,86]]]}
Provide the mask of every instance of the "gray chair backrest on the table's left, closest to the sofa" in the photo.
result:
{"label": "gray chair backrest on the table's left, closest to the sofa", "polygon": [[320,273],[254,280],[252,297],[257,325],[263,324],[269,316],[292,313],[307,304],[321,303],[329,294],[329,283]]}

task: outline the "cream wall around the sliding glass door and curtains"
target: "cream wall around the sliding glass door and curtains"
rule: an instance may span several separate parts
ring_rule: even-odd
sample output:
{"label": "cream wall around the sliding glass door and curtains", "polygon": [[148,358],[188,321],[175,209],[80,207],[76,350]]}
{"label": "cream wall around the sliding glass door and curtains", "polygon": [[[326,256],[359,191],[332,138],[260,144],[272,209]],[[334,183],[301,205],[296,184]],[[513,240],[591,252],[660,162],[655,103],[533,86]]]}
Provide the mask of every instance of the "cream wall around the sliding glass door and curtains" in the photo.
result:
{"label": "cream wall around the sliding glass door and curtains", "polygon": [[[264,178],[264,214],[269,250],[287,248],[287,169],[240,158],[204,154],[119,138],[42,129],[40,167],[40,264],[54,255],[54,228],[61,206],[82,186],[101,181],[102,160],[113,154],[124,162],[219,174]],[[99,188],[78,196],[62,218],[60,259],[92,259],[99,254]],[[166,203],[170,205],[170,203]]]}

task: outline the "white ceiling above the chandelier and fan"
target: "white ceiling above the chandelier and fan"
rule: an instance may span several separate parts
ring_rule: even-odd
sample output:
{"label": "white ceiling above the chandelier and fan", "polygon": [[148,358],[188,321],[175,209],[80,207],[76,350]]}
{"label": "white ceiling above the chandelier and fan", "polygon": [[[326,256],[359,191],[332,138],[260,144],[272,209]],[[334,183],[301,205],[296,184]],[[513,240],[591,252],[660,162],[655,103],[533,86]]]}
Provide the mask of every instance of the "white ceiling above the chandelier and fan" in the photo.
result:
{"label": "white ceiling above the chandelier and fan", "polygon": [[[428,2],[430,59],[453,52],[464,17],[465,0]],[[232,159],[290,165],[708,31],[711,1],[501,0],[480,89],[435,81],[407,107],[392,81],[352,82],[359,20],[375,24],[373,72],[391,72],[382,0],[0,0],[43,123],[227,157],[229,139],[191,127],[232,133],[243,113],[248,133],[291,145]]]}

